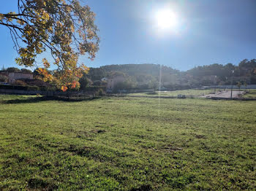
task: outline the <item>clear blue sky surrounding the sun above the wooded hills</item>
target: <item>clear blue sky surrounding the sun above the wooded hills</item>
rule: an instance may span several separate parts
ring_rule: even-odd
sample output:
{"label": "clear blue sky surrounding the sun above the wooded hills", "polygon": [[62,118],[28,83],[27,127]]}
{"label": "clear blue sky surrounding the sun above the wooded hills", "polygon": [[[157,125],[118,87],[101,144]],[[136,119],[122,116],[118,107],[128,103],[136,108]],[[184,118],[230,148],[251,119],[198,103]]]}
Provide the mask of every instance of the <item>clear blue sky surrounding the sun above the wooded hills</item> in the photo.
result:
{"label": "clear blue sky surrounding the sun above the wooded hills", "polygon": [[[108,64],[157,63],[187,70],[211,63],[238,64],[256,58],[255,0],[83,0],[96,13],[101,39],[90,67]],[[4,1],[0,12],[17,9]],[[178,25],[159,31],[154,15],[163,9],[176,14]],[[0,67],[17,66],[10,33],[0,26]]]}

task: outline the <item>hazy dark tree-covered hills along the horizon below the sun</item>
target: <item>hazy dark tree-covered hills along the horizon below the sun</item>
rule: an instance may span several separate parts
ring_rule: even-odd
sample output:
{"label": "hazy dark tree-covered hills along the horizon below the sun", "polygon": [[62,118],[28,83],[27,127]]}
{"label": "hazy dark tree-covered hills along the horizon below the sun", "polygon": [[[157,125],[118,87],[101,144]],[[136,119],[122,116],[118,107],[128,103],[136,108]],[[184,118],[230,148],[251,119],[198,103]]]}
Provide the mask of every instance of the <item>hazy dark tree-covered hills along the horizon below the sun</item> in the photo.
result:
{"label": "hazy dark tree-covered hills along the horizon below the sun", "polygon": [[208,66],[197,66],[188,71],[178,71],[168,66],[149,63],[108,65],[91,68],[86,77],[97,81],[103,77],[123,75],[131,87],[153,88],[159,85],[160,73],[162,86],[169,89],[202,85],[230,85],[232,78],[234,85],[238,82],[256,84],[256,59],[251,61],[245,59],[238,63],[238,66],[232,63],[226,65],[214,63]]}

